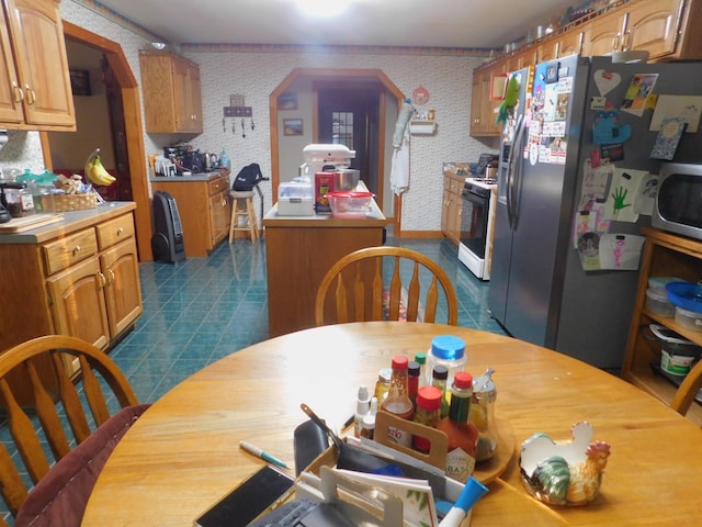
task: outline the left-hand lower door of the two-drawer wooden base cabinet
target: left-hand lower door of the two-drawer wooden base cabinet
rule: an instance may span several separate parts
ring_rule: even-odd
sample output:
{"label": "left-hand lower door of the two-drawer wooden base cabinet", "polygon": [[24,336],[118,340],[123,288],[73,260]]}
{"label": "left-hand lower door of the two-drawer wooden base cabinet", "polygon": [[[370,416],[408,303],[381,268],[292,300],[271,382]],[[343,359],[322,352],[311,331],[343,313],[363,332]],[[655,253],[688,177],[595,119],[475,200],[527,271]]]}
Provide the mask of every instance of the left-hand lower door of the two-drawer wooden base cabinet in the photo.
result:
{"label": "left-hand lower door of the two-drawer wooden base cabinet", "polygon": [[49,278],[47,289],[56,333],[82,338],[104,349],[110,343],[105,283],[97,256]]}

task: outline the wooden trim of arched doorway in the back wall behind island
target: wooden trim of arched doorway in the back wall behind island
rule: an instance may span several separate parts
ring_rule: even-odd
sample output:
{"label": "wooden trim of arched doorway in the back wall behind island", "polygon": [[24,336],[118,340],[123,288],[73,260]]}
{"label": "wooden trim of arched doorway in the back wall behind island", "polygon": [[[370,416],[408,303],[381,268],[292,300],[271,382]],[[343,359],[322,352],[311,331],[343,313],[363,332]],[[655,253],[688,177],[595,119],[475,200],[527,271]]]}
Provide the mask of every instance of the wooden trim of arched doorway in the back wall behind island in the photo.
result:
{"label": "wooden trim of arched doorway in the back wall behind island", "polygon": [[[273,202],[278,200],[278,184],[281,181],[281,159],[280,159],[280,137],[279,137],[279,98],[282,93],[286,92],[291,86],[293,86],[299,79],[309,79],[313,83],[320,86],[320,83],[375,83],[381,88],[381,97],[378,101],[378,122],[377,122],[377,145],[373,156],[377,164],[375,172],[378,175],[376,201],[383,203],[384,195],[383,189],[385,188],[385,167],[387,165],[386,159],[389,159],[389,153],[386,148],[389,148],[389,143],[386,141],[386,119],[383,116],[386,113],[388,105],[393,104],[394,111],[398,111],[403,100],[405,99],[403,92],[395,86],[395,83],[381,70],[377,69],[315,69],[315,68],[299,68],[294,69],[283,81],[273,90],[269,97],[270,106],[270,125],[271,125],[271,179],[273,190]],[[310,143],[319,143],[320,131],[319,123],[319,94],[315,90],[313,93],[312,104],[312,124],[313,134]],[[394,122],[392,123],[394,125]],[[302,156],[302,148],[301,148]],[[302,162],[302,157],[299,158]],[[286,170],[290,170],[286,167]],[[389,170],[387,170],[389,173]],[[378,195],[380,193],[380,195]],[[401,200],[397,195],[390,198],[393,200],[393,229],[395,236],[401,234]]]}

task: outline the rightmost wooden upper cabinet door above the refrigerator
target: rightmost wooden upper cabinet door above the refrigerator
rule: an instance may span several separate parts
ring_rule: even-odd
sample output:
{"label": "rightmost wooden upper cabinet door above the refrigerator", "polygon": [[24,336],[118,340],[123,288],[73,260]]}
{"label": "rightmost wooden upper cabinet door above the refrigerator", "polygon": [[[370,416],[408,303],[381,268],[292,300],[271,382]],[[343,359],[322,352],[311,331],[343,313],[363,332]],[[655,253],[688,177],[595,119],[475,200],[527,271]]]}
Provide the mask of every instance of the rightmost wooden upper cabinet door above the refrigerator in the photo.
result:
{"label": "rightmost wooden upper cabinet door above the refrigerator", "polygon": [[684,0],[646,0],[629,8],[624,45],[650,57],[675,53]]}

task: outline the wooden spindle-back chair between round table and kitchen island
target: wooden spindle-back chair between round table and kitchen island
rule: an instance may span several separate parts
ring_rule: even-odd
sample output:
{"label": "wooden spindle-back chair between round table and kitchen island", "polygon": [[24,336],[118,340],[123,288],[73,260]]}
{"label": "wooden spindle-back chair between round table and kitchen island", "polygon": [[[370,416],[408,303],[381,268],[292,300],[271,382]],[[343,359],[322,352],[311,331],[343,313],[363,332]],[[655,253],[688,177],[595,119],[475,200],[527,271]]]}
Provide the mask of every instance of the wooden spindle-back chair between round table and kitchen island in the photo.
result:
{"label": "wooden spindle-back chair between round table and kitchen island", "polygon": [[456,293],[433,260],[401,247],[369,247],[342,257],[327,271],[317,290],[315,317],[318,326],[383,319],[432,323],[440,300],[445,301],[446,324],[456,325]]}

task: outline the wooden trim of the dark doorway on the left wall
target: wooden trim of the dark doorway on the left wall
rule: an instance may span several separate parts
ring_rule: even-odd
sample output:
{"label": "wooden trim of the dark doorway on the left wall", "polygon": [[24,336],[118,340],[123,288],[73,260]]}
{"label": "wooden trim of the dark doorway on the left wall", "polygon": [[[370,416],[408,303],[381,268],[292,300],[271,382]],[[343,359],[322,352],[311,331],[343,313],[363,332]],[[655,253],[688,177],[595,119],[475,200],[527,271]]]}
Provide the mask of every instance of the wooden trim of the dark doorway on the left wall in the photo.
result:
{"label": "wooden trim of the dark doorway on the left wall", "polygon": [[[128,173],[132,189],[132,200],[136,203],[135,224],[139,260],[151,259],[151,202],[149,199],[146,154],[144,150],[144,130],[141,126],[141,104],[139,85],[129,68],[122,47],[116,42],[91,33],[70,22],[64,21],[64,35],[81,44],[101,52],[107,60],[113,81],[122,90],[122,109],[124,114],[124,133],[128,158]],[[44,164],[52,166],[52,152],[48,133],[39,134]]]}

